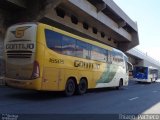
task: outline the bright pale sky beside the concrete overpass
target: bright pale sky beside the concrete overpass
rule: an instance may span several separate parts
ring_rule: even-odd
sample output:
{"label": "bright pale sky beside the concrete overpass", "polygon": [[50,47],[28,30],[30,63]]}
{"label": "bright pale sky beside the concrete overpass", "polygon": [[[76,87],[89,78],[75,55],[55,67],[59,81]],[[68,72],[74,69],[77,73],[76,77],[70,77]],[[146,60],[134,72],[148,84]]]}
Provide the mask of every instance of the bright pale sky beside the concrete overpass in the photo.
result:
{"label": "bright pale sky beside the concrete overpass", "polygon": [[113,0],[137,22],[139,42],[136,48],[160,61],[160,0]]}

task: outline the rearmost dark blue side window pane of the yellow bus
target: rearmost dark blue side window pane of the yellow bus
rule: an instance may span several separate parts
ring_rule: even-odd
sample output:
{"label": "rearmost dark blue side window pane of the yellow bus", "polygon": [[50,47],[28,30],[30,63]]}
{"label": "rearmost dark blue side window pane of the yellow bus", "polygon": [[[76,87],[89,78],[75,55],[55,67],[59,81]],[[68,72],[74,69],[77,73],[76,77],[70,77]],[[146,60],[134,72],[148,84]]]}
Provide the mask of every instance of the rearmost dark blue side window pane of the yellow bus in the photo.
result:
{"label": "rearmost dark blue side window pane of the yellow bus", "polygon": [[47,47],[61,53],[62,35],[51,30],[45,30]]}

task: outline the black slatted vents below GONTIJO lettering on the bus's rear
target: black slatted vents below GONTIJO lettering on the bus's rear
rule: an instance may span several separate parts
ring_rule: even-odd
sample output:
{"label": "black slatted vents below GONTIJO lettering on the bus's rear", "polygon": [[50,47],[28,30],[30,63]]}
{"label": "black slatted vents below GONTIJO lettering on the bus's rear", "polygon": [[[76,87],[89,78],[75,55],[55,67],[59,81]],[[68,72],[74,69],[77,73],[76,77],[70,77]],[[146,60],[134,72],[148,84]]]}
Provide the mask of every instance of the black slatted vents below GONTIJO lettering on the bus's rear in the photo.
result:
{"label": "black slatted vents below GONTIJO lettering on the bus's rear", "polygon": [[32,51],[7,51],[8,58],[31,58]]}

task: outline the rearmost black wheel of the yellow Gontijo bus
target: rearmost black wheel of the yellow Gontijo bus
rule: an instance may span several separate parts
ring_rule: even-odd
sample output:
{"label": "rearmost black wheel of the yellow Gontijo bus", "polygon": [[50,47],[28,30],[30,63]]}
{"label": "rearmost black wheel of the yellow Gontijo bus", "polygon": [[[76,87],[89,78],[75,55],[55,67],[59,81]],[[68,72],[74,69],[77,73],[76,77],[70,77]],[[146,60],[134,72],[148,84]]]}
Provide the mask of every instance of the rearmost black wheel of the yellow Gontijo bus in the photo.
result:
{"label": "rearmost black wheel of the yellow Gontijo bus", "polygon": [[76,85],[73,78],[69,78],[65,86],[65,95],[72,96],[75,93]]}

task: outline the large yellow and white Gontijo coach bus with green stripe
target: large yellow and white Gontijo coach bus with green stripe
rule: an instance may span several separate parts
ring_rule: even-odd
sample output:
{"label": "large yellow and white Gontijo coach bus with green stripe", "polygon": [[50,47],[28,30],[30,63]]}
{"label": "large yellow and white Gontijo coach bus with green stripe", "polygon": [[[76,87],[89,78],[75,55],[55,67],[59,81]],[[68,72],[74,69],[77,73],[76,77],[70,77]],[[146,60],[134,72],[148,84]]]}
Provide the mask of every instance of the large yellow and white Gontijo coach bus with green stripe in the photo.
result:
{"label": "large yellow and white Gontijo coach bus with green stripe", "polygon": [[128,85],[127,56],[102,43],[42,23],[16,24],[5,37],[6,83],[84,94]]}

